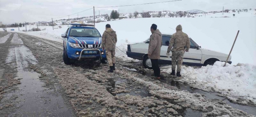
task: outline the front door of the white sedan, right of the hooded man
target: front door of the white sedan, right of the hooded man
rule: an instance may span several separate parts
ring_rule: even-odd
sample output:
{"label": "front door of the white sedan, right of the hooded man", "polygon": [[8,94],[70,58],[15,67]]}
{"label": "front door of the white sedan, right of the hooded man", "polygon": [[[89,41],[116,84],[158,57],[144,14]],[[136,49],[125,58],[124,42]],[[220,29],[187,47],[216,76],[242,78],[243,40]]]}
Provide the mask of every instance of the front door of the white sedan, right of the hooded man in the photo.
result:
{"label": "front door of the white sedan, right of the hooded man", "polygon": [[190,38],[189,52],[185,52],[183,58],[184,65],[196,65],[201,63],[202,51],[198,48],[198,45]]}

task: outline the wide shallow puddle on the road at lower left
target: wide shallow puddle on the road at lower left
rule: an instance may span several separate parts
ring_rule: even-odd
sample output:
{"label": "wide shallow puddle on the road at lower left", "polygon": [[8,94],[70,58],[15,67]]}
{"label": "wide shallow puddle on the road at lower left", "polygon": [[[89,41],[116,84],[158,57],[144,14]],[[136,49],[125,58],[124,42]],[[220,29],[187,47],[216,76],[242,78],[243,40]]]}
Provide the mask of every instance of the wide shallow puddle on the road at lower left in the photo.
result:
{"label": "wide shallow puddle on the road at lower left", "polygon": [[15,79],[20,80],[21,84],[15,94],[18,95],[16,100],[20,103],[16,105],[16,112],[10,116],[72,116],[63,98],[60,98],[61,95],[43,87],[39,73],[19,70],[17,76]]}

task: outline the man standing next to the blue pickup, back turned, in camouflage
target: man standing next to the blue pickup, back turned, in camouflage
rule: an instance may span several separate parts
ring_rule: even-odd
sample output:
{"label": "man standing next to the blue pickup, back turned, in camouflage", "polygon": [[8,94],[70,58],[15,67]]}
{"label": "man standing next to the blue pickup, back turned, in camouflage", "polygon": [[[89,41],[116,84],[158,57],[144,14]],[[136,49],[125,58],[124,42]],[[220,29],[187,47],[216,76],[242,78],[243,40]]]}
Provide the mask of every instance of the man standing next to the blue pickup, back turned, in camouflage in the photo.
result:
{"label": "man standing next to the blue pickup, back turned, in camouflage", "polygon": [[109,72],[113,72],[113,70],[116,70],[115,63],[115,50],[116,50],[116,43],[117,43],[117,34],[116,32],[111,28],[110,24],[106,25],[106,31],[104,31],[102,35],[102,44],[101,47],[104,51],[106,49],[106,55],[109,63]]}

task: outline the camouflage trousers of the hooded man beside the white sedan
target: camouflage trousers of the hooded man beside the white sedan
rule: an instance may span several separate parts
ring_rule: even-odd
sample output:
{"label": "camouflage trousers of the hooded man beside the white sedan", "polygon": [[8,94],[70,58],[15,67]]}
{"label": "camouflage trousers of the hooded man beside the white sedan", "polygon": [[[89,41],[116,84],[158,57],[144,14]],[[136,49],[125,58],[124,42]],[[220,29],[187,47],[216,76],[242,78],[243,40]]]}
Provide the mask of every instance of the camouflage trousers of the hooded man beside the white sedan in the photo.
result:
{"label": "camouflage trousers of the hooded man beside the white sedan", "polygon": [[181,71],[181,65],[184,57],[184,50],[177,50],[172,52],[172,70],[176,68],[176,61],[178,61],[177,72]]}

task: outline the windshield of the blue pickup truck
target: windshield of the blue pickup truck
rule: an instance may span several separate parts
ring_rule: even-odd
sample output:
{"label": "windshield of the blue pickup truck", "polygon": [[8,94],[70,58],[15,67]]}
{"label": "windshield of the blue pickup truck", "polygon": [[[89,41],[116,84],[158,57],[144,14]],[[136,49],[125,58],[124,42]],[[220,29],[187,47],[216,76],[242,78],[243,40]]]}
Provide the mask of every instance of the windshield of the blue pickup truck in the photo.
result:
{"label": "windshield of the blue pickup truck", "polygon": [[72,28],[70,36],[75,37],[101,37],[100,33],[96,29],[79,29]]}

